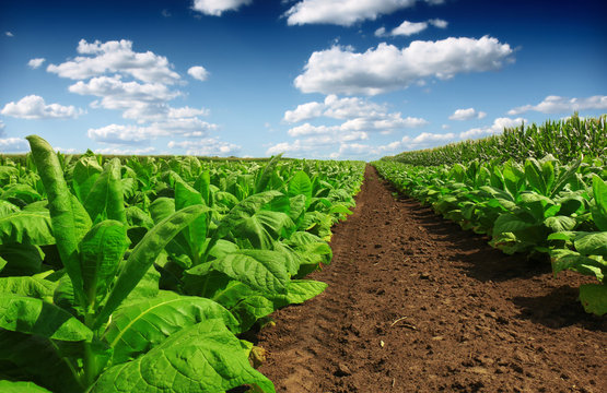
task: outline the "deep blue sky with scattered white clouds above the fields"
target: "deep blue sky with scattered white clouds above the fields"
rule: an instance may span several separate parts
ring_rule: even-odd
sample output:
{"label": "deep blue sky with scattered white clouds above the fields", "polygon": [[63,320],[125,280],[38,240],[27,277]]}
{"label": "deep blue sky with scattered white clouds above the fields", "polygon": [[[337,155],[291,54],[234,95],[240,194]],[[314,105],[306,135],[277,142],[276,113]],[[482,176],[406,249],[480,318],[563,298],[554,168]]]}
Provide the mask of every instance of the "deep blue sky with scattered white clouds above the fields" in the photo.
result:
{"label": "deep blue sky with scattered white clouds above the fields", "polygon": [[0,0],[0,153],[373,160],[607,114],[604,0]]}

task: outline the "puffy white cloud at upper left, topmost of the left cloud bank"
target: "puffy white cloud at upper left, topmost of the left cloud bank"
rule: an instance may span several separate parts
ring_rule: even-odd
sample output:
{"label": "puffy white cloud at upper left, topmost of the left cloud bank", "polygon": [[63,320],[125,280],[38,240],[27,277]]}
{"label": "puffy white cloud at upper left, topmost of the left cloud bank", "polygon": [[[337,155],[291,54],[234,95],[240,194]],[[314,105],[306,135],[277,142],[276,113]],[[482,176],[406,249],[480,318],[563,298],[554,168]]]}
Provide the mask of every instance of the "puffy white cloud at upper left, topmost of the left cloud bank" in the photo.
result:
{"label": "puffy white cloud at upper left, topmost of the left cloud bank", "polygon": [[173,84],[179,74],[172,70],[172,64],[164,56],[151,51],[135,52],[132,41],[127,39],[101,43],[87,43],[81,39],[77,51],[81,55],[61,64],[49,64],[48,72],[61,78],[85,80],[106,73],[122,73],[145,83]]}

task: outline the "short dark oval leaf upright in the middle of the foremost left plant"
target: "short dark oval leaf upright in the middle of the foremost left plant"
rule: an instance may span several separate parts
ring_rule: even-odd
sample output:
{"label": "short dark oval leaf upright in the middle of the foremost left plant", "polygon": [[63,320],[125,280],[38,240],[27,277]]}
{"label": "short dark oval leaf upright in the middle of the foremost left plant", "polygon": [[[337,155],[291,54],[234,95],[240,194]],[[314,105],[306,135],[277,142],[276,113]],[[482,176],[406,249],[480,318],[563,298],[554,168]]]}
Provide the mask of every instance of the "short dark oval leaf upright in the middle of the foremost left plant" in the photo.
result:
{"label": "short dark oval leaf upright in the middle of the foremost left plant", "polygon": [[95,225],[80,242],[84,295],[93,310],[107,295],[128,245],[126,227],[112,219]]}

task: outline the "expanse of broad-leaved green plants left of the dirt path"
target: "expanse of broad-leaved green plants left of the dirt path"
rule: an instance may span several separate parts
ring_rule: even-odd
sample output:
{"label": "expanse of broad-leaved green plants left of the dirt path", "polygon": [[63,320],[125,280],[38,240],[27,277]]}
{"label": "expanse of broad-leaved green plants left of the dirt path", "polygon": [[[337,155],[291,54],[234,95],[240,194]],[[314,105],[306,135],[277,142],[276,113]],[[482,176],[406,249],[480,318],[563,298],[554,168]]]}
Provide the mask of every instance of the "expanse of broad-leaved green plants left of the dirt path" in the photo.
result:
{"label": "expanse of broad-leaved green plants left of the dirt path", "polygon": [[104,159],[28,136],[0,166],[0,390],[273,392],[238,335],[320,294],[362,163]]}

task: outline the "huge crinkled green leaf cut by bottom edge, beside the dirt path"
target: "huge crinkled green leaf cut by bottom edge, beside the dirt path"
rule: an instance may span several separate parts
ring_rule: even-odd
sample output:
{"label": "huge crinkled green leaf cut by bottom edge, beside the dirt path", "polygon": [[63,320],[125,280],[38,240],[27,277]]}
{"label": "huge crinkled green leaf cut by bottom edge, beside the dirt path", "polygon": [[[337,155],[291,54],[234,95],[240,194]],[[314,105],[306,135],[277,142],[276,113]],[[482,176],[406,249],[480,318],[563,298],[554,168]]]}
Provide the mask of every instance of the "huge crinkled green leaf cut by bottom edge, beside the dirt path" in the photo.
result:
{"label": "huge crinkled green leaf cut by bottom edge, beside the dirt path", "polygon": [[250,367],[245,352],[222,320],[208,320],[171,335],[133,361],[106,370],[92,386],[102,392],[224,392],[273,384]]}

